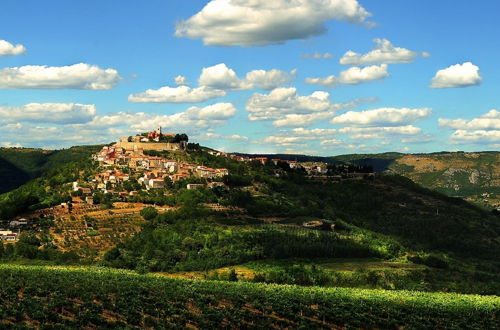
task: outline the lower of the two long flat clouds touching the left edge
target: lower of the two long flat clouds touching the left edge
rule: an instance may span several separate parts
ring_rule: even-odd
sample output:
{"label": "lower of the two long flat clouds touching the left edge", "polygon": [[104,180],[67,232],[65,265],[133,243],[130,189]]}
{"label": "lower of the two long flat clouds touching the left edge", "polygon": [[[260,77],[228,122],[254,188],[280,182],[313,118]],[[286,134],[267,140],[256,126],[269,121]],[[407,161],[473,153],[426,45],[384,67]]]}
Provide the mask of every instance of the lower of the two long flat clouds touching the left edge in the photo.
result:
{"label": "lower of the two long flat clouds touching the left edge", "polygon": [[29,103],[0,107],[0,122],[76,124],[91,121],[95,113],[95,106],[91,104]]}

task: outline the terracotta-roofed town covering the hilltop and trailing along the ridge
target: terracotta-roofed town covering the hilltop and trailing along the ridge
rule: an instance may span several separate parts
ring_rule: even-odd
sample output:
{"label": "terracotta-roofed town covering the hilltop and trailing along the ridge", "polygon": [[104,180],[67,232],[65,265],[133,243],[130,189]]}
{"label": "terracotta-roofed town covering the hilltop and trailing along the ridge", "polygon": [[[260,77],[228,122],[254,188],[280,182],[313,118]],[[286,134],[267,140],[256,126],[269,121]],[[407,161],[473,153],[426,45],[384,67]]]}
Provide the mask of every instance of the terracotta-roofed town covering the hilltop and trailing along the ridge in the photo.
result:
{"label": "terracotta-roofed town covering the hilltop and trailing along the ridge", "polygon": [[[165,211],[167,208],[155,204],[168,202],[182,189],[227,189],[225,181],[230,174],[229,169],[207,166],[205,161],[190,157],[200,152],[201,147],[188,141],[186,134],[164,133],[158,127],[154,131],[122,137],[116,143],[103,146],[92,155],[89,170],[79,171],[76,180],[58,188],[61,195],[68,196],[66,200],[49,208],[5,219],[0,228],[7,229],[0,230],[0,240],[16,241],[21,231],[37,230],[45,223],[66,228],[79,239],[94,232],[97,227],[101,228],[100,231],[115,231],[116,228],[106,224],[110,217],[103,213],[105,209],[113,209],[115,215],[123,213],[133,219],[133,223],[128,223],[127,217],[120,220],[123,222],[121,230],[128,223],[130,230],[127,231],[131,234],[138,230],[136,225],[140,217],[137,216],[144,207],[154,205],[158,210]],[[232,161],[245,166],[266,166],[276,177],[285,175],[287,171],[299,171],[309,180],[327,181],[362,179],[373,175],[366,169],[332,167],[323,162],[249,157],[208,148],[203,148],[203,153],[214,160],[220,159],[222,164]],[[225,209],[215,204],[210,208]],[[99,226],[95,219],[101,220]],[[132,227],[135,229],[132,230]],[[57,233],[54,234],[57,236]]]}

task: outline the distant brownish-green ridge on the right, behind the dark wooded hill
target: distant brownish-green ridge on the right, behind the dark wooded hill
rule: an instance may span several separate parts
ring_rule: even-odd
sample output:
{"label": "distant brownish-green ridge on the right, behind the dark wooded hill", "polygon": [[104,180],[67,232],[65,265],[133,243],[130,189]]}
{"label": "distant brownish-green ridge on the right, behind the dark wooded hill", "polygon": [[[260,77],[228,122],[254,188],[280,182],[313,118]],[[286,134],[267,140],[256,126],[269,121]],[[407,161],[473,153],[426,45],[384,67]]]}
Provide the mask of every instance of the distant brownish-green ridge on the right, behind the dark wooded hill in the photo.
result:
{"label": "distant brownish-green ridge on the right, behind the dark wooded hill", "polygon": [[483,204],[500,207],[500,152],[435,152],[428,154],[348,154],[319,157],[291,154],[240,154],[301,162],[371,166],[377,173],[393,173],[438,190]]}

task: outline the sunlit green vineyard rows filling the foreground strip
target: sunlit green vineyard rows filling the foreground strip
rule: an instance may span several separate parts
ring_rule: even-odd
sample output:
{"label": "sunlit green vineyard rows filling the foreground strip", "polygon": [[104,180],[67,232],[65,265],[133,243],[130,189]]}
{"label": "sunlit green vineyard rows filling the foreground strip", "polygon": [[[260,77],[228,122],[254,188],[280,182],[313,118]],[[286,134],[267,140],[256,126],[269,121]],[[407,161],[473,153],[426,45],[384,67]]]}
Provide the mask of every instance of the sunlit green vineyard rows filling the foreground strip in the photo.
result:
{"label": "sunlit green vineyard rows filling the foreground strip", "polygon": [[494,329],[500,298],[0,265],[0,327]]}

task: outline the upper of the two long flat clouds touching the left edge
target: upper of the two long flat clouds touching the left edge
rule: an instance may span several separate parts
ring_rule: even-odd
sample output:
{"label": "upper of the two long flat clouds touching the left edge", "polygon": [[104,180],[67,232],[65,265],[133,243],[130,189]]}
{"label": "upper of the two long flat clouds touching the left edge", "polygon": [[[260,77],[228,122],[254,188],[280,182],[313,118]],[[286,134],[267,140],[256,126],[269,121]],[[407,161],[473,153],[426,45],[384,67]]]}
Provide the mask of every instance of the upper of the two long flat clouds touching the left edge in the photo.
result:
{"label": "upper of the two long flat clouds touching the left edge", "polygon": [[0,69],[0,89],[111,89],[120,78],[114,69],[86,63],[60,67],[27,65]]}

